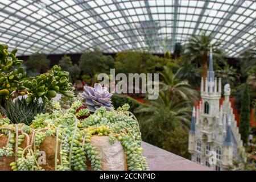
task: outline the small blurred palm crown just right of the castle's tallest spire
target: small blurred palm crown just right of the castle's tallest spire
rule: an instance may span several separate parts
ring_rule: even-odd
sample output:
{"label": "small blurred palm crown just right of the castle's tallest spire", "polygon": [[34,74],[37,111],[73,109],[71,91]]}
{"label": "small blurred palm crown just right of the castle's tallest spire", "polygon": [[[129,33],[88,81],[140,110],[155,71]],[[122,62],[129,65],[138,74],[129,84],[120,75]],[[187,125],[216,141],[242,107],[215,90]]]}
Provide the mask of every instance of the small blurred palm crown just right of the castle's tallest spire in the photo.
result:
{"label": "small blurred palm crown just right of the castle's tallest spire", "polygon": [[230,84],[231,86],[234,86],[240,78],[240,74],[237,73],[236,69],[229,67],[229,65],[225,65],[223,69],[218,69],[216,76],[221,78],[222,85]]}

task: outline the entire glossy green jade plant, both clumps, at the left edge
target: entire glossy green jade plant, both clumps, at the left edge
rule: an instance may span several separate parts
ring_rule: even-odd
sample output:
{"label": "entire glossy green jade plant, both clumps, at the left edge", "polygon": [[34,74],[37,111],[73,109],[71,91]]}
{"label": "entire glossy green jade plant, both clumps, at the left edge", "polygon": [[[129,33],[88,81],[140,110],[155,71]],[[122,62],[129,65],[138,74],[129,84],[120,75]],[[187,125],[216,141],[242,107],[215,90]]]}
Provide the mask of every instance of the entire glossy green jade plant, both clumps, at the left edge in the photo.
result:
{"label": "entire glossy green jade plant, both clumps, at the left edge", "polygon": [[51,100],[57,93],[73,97],[72,83],[69,82],[69,73],[61,71],[55,65],[50,73],[36,77],[26,77],[26,72],[20,64],[23,62],[16,58],[17,49],[8,51],[6,44],[0,44],[0,104],[18,95],[27,94],[27,104],[42,98]]}

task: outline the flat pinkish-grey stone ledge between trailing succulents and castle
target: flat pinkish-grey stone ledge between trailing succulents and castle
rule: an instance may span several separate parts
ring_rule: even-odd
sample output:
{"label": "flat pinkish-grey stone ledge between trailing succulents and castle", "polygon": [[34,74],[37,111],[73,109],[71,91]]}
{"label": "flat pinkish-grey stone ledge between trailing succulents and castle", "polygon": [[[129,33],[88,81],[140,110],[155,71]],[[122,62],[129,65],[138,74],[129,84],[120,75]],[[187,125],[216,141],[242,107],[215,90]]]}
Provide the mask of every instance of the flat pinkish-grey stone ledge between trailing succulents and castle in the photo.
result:
{"label": "flat pinkish-grey stone ledge between trailing succulents and castle", "polygon": [[212,171],[191,160],[172,154],[162,148],[142,142],[143,155],[147,157],[148,167],[151,171]]}

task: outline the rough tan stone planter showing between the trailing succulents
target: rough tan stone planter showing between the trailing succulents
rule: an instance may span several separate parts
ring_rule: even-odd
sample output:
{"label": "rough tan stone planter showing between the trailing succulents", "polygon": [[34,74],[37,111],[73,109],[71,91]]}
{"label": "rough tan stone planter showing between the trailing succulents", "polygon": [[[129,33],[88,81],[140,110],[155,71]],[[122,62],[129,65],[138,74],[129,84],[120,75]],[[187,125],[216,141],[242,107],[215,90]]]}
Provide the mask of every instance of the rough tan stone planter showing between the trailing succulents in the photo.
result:
{"label": "rough tan stone planter showing between the trailing succulents", "polygon": [[[6,146],[7,137],[2,135],[0,137],[0,148]],[[109,137],[98,137],[94,135],[91,138],[92,144],[97,148],[99,155],[102,159],[102,169],[104,171],[125,171],[127,170],[126,155],[123,150],[122,144],[116,140],[115,143],[109,143]],[[26,140],[20,145],[20,147],[26,147]],[[55,137],[46,137],[40,145],[40,151],[46,152],[46,164],[41,164],[47,171],[53,171],[55,169]],[[59,158],[59,156],[58,156]],[[0,171],[10,171],[10,163],[14,162],[15,156],[0,158]],[[90,162],[87,160],[86,166],[90,170]]]}

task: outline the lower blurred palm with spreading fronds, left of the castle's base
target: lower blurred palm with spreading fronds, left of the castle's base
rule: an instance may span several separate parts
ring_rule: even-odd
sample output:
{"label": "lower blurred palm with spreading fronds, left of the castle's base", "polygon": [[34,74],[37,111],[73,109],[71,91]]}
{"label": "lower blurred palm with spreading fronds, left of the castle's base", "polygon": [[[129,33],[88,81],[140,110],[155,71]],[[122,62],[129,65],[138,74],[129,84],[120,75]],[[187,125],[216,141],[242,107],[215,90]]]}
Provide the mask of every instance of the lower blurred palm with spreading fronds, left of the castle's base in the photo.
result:
{"label": "lower blurred palm with spreading fronds, left of the castle's base", "polygon": [[[170,91],[159,92],[158,100],[149,100],[148,105],[141,105],[135,113],[144,114],[142,122],[154,132],[174,130],[177,126],[189,129],[191,102],[179,101],[169,97]],[[153,131],[152,131],[153,132]]]}

